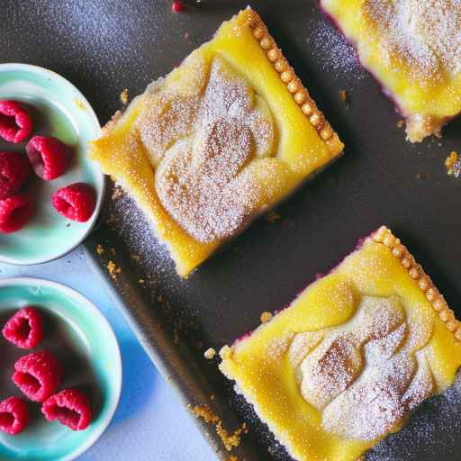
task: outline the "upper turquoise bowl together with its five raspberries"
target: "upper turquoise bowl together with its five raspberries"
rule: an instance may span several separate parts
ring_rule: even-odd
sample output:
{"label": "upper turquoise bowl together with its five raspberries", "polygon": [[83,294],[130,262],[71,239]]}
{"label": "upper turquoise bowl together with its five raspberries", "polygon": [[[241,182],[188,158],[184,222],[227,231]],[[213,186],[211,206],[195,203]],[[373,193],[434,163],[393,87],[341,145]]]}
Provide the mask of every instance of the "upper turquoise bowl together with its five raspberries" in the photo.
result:
{"label": "upper turquoise bowl together with its five raspberries", "polygon": [[[86,144],[100,133],[92,107],[64,77],[0,64],[0,261],[39,264],[86,238],[104,195],[104,176],[86,158]],[[80,183],[92,199],[73,217],[53,196]]]}

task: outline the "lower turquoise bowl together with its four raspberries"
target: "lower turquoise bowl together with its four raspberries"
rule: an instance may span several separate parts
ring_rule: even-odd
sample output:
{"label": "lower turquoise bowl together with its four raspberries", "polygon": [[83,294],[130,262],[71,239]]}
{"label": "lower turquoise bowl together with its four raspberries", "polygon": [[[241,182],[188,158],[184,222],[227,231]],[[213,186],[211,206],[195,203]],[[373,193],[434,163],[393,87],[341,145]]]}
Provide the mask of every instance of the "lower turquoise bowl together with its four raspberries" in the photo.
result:
{"label": "lower turquoise bowl together with its four raspberries", "polygon": [[[37,314],[42,339],[25,350],[17,331],[23,339],[25,325],[37,329]],[[0,459],[75,459],[118,405],[122,362],[113,330],[81,294],[25,277],[0,280],[1,330],[11,335],[0,335]]]}

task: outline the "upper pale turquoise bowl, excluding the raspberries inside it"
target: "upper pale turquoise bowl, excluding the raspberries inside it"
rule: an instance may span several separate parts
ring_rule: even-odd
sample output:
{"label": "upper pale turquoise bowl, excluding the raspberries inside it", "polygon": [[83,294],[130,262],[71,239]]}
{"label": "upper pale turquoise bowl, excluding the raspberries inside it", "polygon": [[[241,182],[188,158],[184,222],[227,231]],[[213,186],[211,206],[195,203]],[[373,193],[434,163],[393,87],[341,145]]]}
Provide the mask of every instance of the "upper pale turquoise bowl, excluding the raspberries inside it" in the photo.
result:
{"label": "upper pale turquoise bowl, excluding the raspberries inside it", "polygon": [[[0,64],[0,99],[32,106],[33,134],[59,138],[72,152],[71,166],[63,176],[52,181],[32,176],[35,212],[22,230],[0,234],[0,261],[28,265],[59,258],[86,238],[101,208],[104,176],[97,164],[86,158],[86,142],[100,136],[100,124],[77,88],[45,68]],[[25,142],[11,144],[1,140],[0,150],[25,152]],[[67,220],[51,204],[51,196],[59,187],[76,182],[92,185],[97,195],[95,212],[83,223]]]}

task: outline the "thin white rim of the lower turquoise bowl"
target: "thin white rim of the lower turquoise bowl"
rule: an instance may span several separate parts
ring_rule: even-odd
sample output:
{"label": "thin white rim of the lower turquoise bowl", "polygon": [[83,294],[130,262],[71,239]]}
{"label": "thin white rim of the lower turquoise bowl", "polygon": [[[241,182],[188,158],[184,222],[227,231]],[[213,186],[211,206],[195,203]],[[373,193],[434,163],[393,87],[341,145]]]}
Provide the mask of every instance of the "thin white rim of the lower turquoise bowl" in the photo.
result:
{"label": "thin white rim of the lower turquoise bowl", "polygon": [[119,379],[116,383],[116,393],[112,401],[110,402],[110,407],[107,412],[107,416],[104,418],[102,423],[99,425],[98,429],[95,430],[92,437],[86,438],[86,440],[82,443],[81,446],[77,447],[69,455],[65,455],[59,458],[59,461],[72,461],[77,458],[77,456],[82,455],[85,453],[89,448],[93,447],[95,443],[101,438],[105,432],[105,430],[109,427],[109,424],[113,420],[113,415],[117,410],[120,398],[122,395],[122,383],[123,383],[123,369],[122,369],[122,354],[120,351],[119,342],[113,328],[109,321],[104,317],[103,312],[99,311],[99,309],[92,303],[86,296],[79,293],[74,288],[70,288],[67,285],[59,284],[58,282],[53,282],[51,280],[47,280],[40,277],[31,277],[31,276],[18,276],[18,277],[7,277],[0,279],[0,289],[4,286],[8,285],[45,285],[50,286],[60,292],[67,294],[68,297],[71,297],[77,301],[77,303],[83,306],[83,309],[89,311],[95,318],[97,319],[98,323],[104,326],[104,329],[107,331],[109,337],[113,339],[113,345],[115,346],[113,350],[113,366],[115,367],[115,372],[119,375]]}

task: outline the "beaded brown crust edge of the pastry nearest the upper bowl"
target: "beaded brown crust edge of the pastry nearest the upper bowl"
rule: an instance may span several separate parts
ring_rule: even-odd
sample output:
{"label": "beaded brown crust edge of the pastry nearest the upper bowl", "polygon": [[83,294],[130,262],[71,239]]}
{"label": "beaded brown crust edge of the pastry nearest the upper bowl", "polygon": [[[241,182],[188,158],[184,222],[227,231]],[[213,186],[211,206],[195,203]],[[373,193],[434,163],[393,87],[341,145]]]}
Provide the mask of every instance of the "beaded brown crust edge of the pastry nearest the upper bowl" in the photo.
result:
{"label": "beaded brown crust edge of the pastry nearest the upper bowl", "polygon": [[338,155],[344,149],[344,144],[339,140],[338,134],[331,128],[323,113],[317,108],[317,104],[309,95],[306,87],[296,76],[294,68],[288,63],[282,50],[277,47],[266,24],[254,10],[249,10],[248,26],[261,49],[265,51],[267,60],[276,69],[288,92],[293,95],[294,102],[298,104],[312,127],[317,130],[319,137],[326,143],[330,153],[335,156]]}

